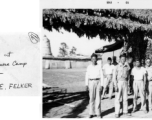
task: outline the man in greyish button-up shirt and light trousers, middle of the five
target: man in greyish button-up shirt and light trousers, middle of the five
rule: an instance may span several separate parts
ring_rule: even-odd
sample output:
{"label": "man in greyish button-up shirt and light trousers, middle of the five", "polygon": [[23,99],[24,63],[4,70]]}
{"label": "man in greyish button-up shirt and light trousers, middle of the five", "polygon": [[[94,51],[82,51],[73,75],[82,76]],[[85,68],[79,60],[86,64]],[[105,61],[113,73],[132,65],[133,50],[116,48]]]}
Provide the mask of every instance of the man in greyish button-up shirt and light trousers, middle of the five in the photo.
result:
{"label": "man in greyish button-up shirt and light trousers, middle of the five", "polygon": [[123,114],[128,115],[128,76],[130,67],[126,63],[126,55],[120,55],[120,63],[117,65],[114,72],[114,85],[116,97],[115,97],[115,117],[119,118],[120,114],[120,102],[123,100]]}

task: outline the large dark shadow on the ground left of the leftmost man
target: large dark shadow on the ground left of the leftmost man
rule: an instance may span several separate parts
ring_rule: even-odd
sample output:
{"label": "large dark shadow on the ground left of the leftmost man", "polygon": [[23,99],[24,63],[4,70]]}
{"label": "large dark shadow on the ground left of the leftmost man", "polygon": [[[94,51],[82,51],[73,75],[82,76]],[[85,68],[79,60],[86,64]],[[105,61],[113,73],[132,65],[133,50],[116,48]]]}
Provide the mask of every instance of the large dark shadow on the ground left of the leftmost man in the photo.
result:
{"label": "large dark shadow on the ground left of the leftmost man", "polygon": [[[46,96],[46,97],[44,97]],[[46,102],[50,101],[51,102]],[[85,91],[76,93],[44,93],[43,94],[43,117],[54,107],[60,107],[64,104],[69,104],[78,100],[83,100],[78,106],[76,106],[67,116],[63,118],[76,118],[83,110],[86,109],[89,98],[88,93]]]}

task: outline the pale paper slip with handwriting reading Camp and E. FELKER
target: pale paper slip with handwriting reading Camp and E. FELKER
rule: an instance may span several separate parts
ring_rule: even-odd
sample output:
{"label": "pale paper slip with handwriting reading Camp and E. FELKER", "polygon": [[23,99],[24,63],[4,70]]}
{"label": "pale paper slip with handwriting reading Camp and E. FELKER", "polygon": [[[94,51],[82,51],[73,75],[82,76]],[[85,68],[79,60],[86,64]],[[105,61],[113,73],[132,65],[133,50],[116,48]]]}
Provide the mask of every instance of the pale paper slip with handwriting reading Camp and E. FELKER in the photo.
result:
{"label": "pale paper slip with handwriting reading Camp and E. FELKER", "polygon": [[0,95],[39,94],[40,39],[34,35],[0,35]]}

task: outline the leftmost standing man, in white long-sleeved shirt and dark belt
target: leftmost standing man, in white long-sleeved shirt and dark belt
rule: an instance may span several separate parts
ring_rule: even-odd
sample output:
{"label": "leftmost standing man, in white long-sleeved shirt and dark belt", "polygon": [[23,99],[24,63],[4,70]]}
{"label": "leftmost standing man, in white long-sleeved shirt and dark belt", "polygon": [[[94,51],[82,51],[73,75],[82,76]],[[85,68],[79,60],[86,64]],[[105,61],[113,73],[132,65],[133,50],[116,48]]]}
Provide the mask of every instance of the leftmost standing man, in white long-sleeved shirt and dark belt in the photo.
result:
{"label": "leftmost standing man, in white long-sleeved shirt and dark belt", "polygon": [[91,62],[86,72],[86,90],[89,90],[89,118],[97,116],[101,118],[101,92],[103,90],[103,74],[101,66],[97,65],[97,55],[91,55]]}

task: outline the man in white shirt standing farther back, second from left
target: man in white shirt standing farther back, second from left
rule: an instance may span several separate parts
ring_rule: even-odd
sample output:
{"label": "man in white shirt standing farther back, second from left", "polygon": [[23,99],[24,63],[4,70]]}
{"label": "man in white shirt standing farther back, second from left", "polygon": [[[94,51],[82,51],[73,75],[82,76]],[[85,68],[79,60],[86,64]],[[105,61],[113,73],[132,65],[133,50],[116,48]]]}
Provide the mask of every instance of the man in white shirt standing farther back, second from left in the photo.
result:
{"label": "man in white shirt standing farther back, second from left", "polygon": [[108,57],[107,64],[103,66],[104,89],[102,93],[102,99],[104,99],[108,87],[109,87],[109,99],[112,98],[112,93],[113,93],[112,75],[113,75],[114,65],[112,65],[111,62],[112,59]]}

